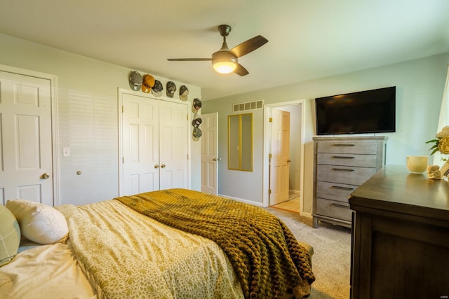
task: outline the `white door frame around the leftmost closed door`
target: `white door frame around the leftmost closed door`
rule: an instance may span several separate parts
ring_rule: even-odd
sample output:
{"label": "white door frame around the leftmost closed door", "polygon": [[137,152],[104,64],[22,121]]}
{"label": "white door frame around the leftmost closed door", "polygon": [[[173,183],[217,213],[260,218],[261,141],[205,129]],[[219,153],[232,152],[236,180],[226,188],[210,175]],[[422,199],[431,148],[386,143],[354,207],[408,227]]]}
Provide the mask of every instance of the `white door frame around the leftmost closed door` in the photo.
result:
{"label": "white door frame around the leftmost closed door", "polygon": [[[8,73],[43,78],[50,81],[51,90],[51,139],[52,139],[52,162],[53,162],[53,205],[60,204],[60,173],[59,173],[59,127],[58,127],[58,77],[52,74],[31,71],[29,69],[20,69],[0,64],[0,71]],[[61,149],[62,152],[62,149]]]}

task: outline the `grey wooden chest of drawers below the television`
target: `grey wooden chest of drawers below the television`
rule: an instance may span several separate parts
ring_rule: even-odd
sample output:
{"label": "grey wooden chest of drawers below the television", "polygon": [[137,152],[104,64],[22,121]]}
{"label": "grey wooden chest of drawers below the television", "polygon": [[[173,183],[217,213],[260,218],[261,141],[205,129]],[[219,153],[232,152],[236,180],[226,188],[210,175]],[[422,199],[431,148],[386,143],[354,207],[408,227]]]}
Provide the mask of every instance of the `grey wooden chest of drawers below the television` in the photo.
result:
{"label": "grey wooden chest of drawers below the television", "polygon": [[349,194],[384,165],[387,137],[314,137],[313,227],[351,227]]}

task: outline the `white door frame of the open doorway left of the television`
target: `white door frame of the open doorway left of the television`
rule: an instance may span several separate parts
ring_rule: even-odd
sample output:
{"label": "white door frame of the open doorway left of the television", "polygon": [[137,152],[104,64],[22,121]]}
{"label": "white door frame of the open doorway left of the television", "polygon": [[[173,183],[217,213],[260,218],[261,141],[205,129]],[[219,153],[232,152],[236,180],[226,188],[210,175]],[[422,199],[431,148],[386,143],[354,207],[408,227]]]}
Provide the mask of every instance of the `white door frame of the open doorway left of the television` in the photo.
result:
{"label": "white door frame of the open doorway left of the television", "polygon": [[[300,214],[302,215],[302,211],[304,209],[304,127],[305,127],[305,99],[298,99],[295,101],[289,101],[289,102],[280,102],[275,104],[266,104],[264,105],[264,146],[263,146],[263,181],[262,181],[262,206],[268,207],[269,206],[269,148],[270,148],[270,127],[269,127],[269,118],[271,116],[271,110],[278,107],[285,107],[285,106],[294,106],[294,105],[300,105],[301,106],[301,166],[300,166],[300,173],[301,173],[301,179],[300,179],[300,198],[301,198],[301,204],[300,204]],[[290,116],[291,118],[291,116]],[[292,127],[290,127],[290,131],[293,130]],[[292,142],[292,140],[290,140]],[[290,153],[291,155],[291,153]]]}

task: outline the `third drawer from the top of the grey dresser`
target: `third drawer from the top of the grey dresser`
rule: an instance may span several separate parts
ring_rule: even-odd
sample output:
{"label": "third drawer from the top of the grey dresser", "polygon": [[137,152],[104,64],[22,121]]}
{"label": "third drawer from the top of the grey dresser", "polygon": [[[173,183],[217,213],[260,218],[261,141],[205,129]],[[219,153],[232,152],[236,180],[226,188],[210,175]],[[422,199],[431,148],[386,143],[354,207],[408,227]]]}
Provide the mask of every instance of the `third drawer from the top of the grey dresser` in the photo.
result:
{"label": "third drawer from the top of the grey dresser", "polygon": [[376,169],[370,167],[316,165],[316,181],[360,186],[375,173]]}

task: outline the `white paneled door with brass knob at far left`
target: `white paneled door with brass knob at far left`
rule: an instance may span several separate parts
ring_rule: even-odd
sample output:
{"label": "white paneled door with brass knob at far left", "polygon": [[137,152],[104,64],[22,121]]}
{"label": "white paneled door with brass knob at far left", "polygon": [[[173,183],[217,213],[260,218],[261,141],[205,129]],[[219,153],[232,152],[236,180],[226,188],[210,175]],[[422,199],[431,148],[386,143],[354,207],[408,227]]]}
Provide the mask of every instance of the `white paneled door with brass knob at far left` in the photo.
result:
{"label": "white paneled door with brass knob at far left", "polygon": [[0,200],[53,206],[51,82],[0,71]]}

